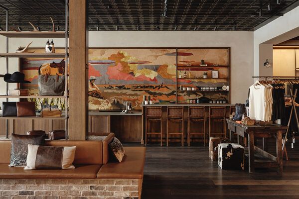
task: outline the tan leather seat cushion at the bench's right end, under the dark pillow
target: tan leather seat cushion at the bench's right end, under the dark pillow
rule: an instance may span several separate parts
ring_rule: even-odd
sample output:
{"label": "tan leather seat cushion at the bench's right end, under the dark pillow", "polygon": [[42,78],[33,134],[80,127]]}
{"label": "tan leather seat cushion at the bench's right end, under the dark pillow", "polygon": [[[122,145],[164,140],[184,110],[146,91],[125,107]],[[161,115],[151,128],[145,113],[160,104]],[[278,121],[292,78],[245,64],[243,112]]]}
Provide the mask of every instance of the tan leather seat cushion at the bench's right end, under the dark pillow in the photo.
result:
{"label": "tan leather seat cushion at the bench's right end, under the dark pillow", "polygon": [[97,174],[102,179],[142,179],[144,173],[146,148],[124,147],[126,155],[121,163],[109,162]]}

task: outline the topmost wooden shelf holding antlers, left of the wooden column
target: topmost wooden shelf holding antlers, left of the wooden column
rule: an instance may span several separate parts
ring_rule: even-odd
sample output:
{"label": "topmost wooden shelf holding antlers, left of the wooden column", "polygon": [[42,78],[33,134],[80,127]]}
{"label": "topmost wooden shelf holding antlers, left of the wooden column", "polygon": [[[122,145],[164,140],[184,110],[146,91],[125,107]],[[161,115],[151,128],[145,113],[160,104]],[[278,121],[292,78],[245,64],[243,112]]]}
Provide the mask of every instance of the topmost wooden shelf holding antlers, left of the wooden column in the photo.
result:
{"label": "topmost wooden shelf holding antlers, left of the wooden column", "polygon": [[14,31],[0,31],[0,35],[11,38],[65,38],[64,31],[52,32],[52,31],[43,31],[43,32],[14,32]]}

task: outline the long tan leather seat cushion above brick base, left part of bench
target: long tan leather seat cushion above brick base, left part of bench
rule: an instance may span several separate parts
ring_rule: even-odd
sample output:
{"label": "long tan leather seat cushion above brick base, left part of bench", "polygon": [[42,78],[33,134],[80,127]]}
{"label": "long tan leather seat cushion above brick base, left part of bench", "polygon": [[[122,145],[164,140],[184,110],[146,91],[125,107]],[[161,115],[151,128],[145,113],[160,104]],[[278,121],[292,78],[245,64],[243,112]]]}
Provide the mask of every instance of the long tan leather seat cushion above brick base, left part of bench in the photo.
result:
{"label": "long tan leather seat cushion above brick base, left part of bench", "polygon": [[35,178],[68,178],[95,179],[101,165],[75,165],[75,169],[67,170],[24,170],[22,167],[8,167],[0,164],[0,179],[35,179]]}

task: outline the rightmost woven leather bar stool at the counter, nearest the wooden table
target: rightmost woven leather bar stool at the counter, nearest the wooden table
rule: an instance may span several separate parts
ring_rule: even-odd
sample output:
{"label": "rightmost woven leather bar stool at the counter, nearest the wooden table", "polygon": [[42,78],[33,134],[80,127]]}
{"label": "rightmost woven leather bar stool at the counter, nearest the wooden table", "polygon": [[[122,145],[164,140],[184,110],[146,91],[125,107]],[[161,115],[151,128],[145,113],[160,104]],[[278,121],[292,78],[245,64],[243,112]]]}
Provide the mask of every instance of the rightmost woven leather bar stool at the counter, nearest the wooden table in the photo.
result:
{"label": "rightmost woven leather bar stool at the counter, nearest the wooden table", "polygon": [[223,128],[224,128],[224,136],[226,137],[226,107],[225,106],[210,106],[209,107],[209,137],[213,134],[215,135],[223,135],[223,133],[212,133],[211,132],[211,122],[223,122]]}

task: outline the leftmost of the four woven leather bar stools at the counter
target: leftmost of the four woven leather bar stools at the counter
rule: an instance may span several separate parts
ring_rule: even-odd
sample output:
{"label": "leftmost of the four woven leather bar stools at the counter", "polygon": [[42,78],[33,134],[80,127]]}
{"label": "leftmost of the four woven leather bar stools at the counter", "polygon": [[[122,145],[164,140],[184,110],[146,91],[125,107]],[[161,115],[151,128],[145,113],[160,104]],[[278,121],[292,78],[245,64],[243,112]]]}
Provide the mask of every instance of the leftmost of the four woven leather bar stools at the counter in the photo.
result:
{"label": "leftmost of the four woven leather bar stools at the counter", "polygon": [[[160,132],[149,132],[148,124],[150,122],[160,122]],[[148,143],[148,135],[160,135],[160,142],[162,146],[162,107],[161,106],[147,106],[146,108],[146,146]]]}

